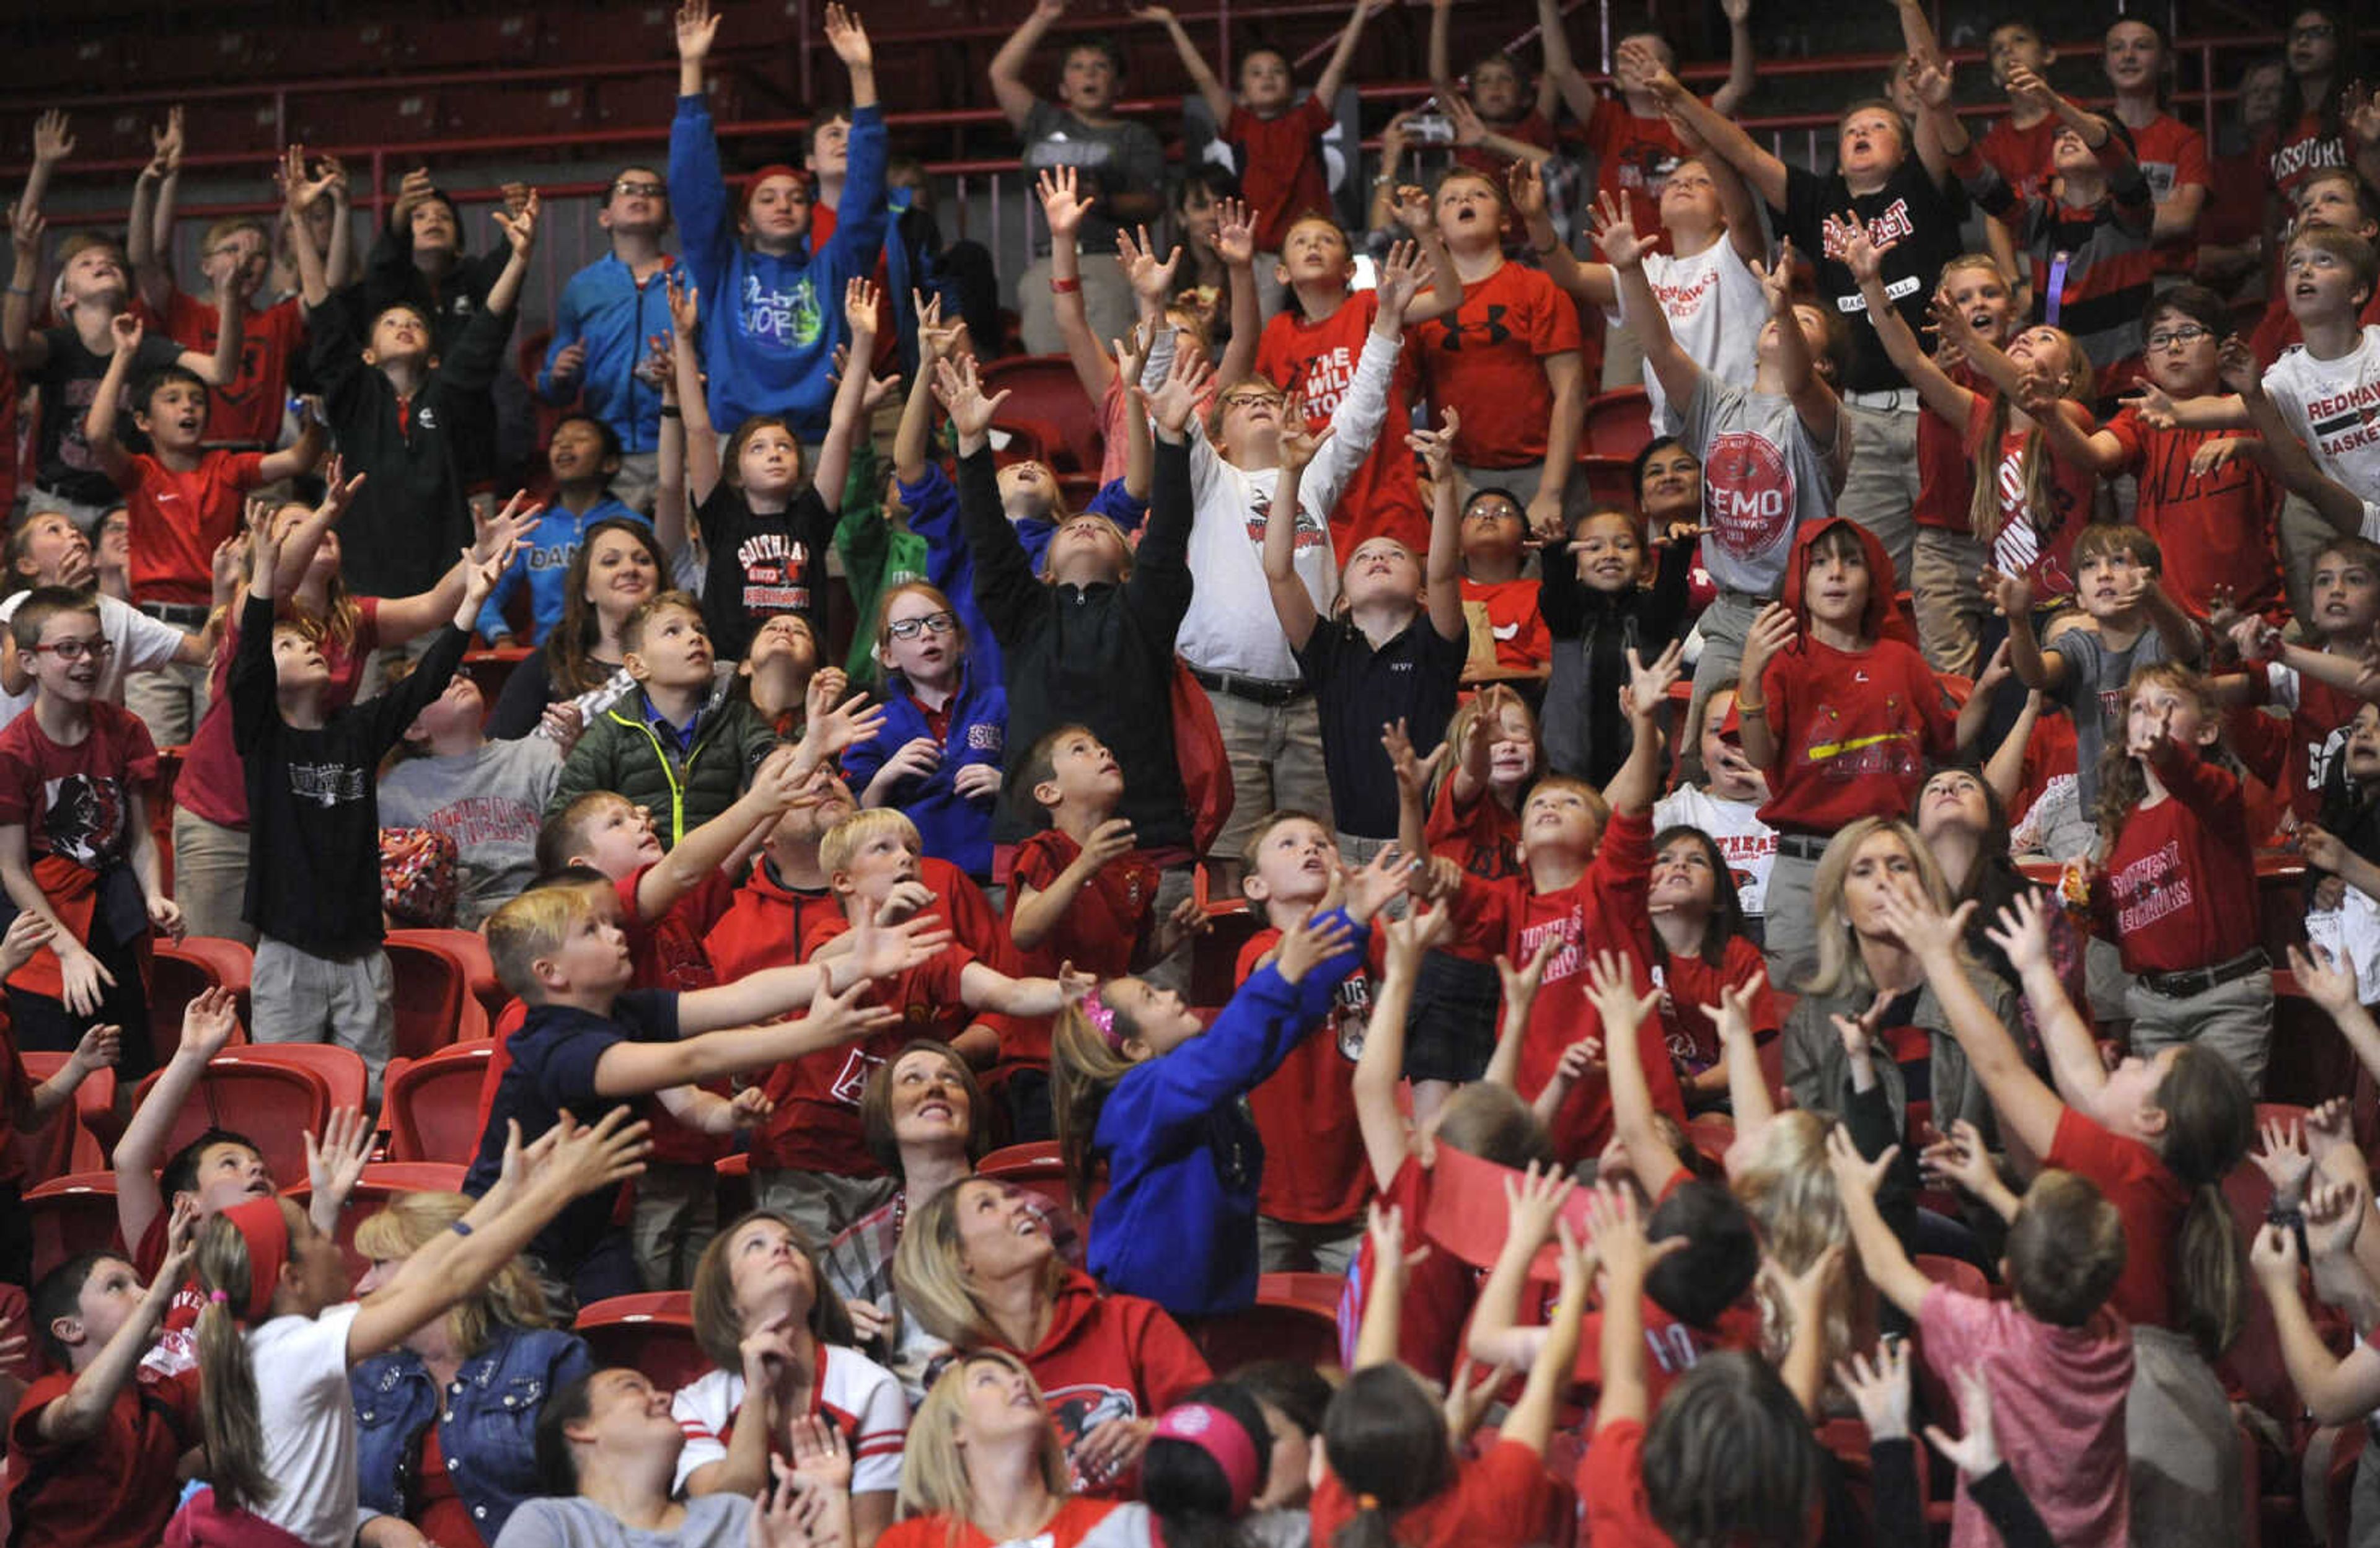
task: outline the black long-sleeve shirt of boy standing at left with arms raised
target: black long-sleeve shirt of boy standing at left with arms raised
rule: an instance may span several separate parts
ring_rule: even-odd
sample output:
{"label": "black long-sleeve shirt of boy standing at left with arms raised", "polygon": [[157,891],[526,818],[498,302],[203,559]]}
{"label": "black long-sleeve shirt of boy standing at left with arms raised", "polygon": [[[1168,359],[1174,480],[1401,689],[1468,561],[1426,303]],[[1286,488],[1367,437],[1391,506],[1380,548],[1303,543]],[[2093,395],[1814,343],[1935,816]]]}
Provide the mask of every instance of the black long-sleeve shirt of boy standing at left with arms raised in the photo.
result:
{"label": "black long-sleeve shirt of boy standing at left with arms raised", "polygon": [[331,711],[314,730],[281,718],[274,604],[248,597],[231,659],[231,740],[248,766],[248,896],[240,918],[314,956],[381,939],[378,766],[414,716],[445,692],[469,635],[452,623],[421,666],[378,699]]}

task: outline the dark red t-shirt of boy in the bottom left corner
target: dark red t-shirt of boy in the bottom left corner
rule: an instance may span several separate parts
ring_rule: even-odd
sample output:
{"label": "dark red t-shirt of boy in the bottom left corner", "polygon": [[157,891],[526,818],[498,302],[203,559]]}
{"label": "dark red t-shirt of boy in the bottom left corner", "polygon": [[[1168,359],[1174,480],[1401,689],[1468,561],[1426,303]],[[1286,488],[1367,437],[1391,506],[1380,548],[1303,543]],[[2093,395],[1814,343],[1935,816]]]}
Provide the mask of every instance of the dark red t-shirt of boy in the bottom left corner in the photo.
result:
{"label": "dark red t-shirt of boy in the bottom left corner", "polygon": [[140,1370],[107,1405],[98,1434],[48,1443],[40,1410],[74,1386],[69,1372],[33,1382],[10,1420],[10,1543],[14,1548],[155,1548],[181,1503],[174,1467],[202,1446],[198,1372]]}

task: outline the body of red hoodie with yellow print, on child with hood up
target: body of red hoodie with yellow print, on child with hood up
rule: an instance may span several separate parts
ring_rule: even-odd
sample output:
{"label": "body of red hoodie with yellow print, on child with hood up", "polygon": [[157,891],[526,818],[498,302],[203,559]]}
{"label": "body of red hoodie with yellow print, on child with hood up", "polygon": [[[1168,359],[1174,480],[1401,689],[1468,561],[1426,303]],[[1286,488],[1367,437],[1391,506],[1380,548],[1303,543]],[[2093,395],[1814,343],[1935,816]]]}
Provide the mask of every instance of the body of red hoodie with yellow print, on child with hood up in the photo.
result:
{"label": "body of red hoodie with yellow print, on child with hood up", "polygon": [[1949,759],[1959,742],[1933,668],[1899,640],[1840,652],[1802,635],[1768,661],[1761,699],[1778,759],[1759,816],[1780,832],[1902,816],[1928,759]]}

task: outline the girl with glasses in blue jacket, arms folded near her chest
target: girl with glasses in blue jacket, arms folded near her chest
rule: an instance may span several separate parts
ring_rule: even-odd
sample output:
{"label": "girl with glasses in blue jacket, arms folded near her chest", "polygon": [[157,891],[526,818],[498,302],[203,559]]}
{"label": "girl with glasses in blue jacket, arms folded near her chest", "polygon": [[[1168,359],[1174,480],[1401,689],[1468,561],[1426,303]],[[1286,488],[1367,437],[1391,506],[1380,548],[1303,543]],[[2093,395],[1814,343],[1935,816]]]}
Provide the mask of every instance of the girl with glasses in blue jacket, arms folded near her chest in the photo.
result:
{"label": "girl with glasses in blue jacket, arms folded near her chest", "polygon": [[1007,692],[997,678],[969,671],[966,625],[923,580],[885,592],[876,663],[885,673],[885,725],[843,754],[843,775],[862,806],[902,808],[926,854],[988,885]]}

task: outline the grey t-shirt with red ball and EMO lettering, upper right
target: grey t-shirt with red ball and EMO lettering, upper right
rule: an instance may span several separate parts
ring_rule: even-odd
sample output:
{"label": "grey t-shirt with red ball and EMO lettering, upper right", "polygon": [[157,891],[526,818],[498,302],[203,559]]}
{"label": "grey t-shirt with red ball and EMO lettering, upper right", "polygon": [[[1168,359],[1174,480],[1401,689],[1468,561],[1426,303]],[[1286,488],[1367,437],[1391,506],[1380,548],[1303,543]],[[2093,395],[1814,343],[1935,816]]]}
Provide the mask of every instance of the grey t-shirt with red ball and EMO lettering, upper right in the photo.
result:
{"label": "grey t-shirt with red ball and EMO lettering, upper right", "polygon": [[1709,371],[1678,416],[1678,438],[1702,459],[1702,566],[1723,590],[1775,597],[1804,521],[1835,514],[1844,459],[1802,428],[1780,392],[1730,388]]}

